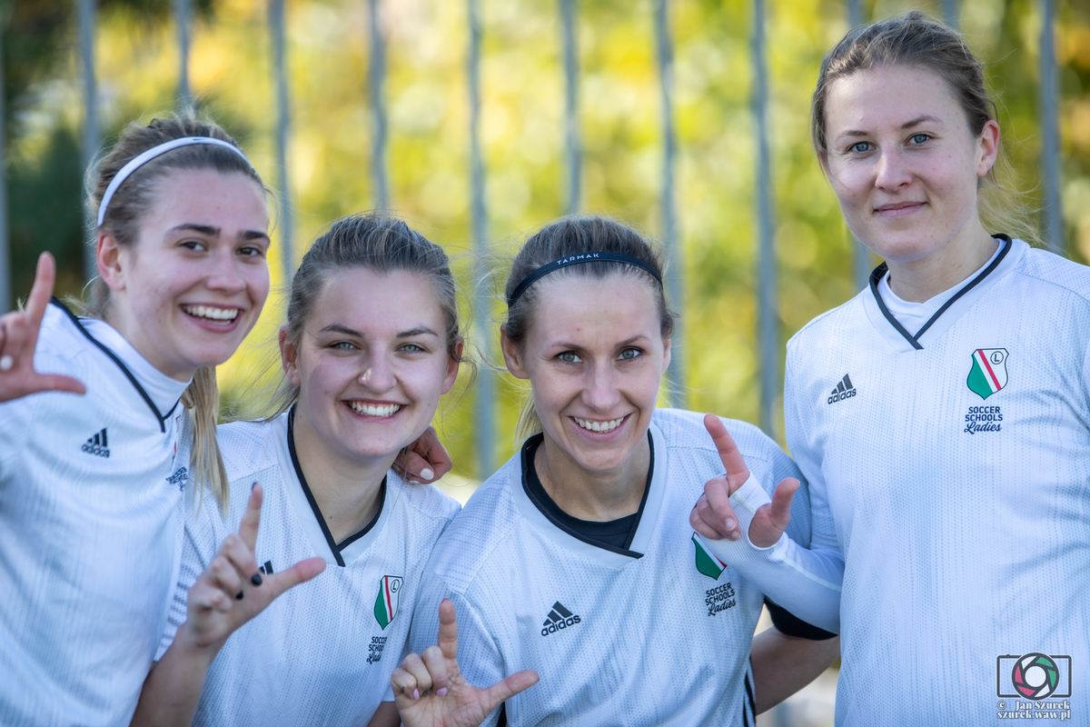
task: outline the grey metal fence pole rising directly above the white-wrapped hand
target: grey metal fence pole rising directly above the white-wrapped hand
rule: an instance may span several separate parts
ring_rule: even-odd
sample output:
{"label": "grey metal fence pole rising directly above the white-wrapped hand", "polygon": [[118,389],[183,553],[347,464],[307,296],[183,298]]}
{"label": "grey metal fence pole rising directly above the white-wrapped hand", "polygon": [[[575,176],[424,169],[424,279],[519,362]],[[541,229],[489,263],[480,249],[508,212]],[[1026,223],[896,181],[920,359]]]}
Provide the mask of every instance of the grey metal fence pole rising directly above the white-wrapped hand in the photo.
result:
{"label": "grey metal fence pole rising directly above the white-wrapped hand", "polygon": [[758,339],[761,362],[761,428],[773,435],[773,405],[780,391],[779,312],[773,250],[772,159],[768,152],[768,71],[764,56],[764,0],[753,0],[753,118],[756,123]]}

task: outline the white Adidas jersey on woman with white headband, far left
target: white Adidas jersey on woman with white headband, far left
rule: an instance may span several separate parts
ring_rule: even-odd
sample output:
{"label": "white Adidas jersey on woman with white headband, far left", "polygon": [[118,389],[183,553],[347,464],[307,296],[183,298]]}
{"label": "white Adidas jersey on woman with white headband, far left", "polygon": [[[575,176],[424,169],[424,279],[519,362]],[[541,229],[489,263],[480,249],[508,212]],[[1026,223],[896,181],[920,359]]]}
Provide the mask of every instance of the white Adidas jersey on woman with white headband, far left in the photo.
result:
{"label": "white Adidas jersey on woman with white headband, far left", "polygon": [[94,329],[50,305],[34,354],[86,396],[0,404],[3,725],[128,724],[178,578],[186,384]]}

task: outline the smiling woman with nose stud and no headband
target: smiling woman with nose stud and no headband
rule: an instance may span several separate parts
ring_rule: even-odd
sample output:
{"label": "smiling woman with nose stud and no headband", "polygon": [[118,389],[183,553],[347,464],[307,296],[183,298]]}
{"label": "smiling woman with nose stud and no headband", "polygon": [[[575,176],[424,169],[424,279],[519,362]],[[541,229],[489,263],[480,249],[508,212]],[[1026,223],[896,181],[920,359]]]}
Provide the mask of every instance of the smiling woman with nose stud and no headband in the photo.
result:
{"label": "smiling woman with nose stud and no headband", "polygon": [[446,253],[392,217],[334,222],[292,279],[279,342],[274,412],[219,427],[227,518],[186,513],[135,724],[398,724],[390,674],[420,566],[459,508],[390,469],[465,363]]}

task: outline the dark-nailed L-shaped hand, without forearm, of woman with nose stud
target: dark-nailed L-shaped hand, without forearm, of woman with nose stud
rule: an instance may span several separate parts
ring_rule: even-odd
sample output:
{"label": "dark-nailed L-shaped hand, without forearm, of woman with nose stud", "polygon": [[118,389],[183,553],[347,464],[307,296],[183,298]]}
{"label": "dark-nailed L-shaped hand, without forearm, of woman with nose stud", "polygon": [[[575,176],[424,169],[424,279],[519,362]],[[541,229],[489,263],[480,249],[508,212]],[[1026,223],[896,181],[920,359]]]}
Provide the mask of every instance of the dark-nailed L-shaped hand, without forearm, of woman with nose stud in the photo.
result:
{"label": "dark-nailed L-shaped hand, without forearm, of woman with nose stud", "polygon": [[254,558],[261,517],[262,486],[255,483],[239,532],[227,536],[190,589],[186,621],[179,629],[179,638],[190,646],[218,650],[281,593],[325,570],[322,558],[307,558],[287,570],[263,575]]}

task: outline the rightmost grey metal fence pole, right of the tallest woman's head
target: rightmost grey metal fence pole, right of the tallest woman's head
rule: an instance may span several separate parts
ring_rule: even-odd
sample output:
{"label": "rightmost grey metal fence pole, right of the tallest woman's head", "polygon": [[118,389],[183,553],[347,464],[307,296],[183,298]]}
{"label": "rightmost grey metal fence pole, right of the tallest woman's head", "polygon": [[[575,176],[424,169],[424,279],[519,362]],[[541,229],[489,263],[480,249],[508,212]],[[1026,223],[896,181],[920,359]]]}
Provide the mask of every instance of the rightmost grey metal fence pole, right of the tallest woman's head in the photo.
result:
{"label": "rightmost grey metal fence pole, right of the tallest woman's head", "polygon": [[1056,123],[1056,0],[1041,0],[1041,177],[1044,184],[1044,242],[1064,252],[1064,221],[1059,203],[1059,134]]}

